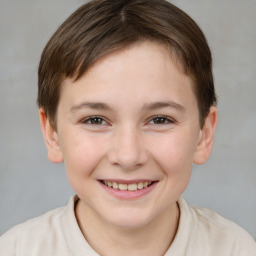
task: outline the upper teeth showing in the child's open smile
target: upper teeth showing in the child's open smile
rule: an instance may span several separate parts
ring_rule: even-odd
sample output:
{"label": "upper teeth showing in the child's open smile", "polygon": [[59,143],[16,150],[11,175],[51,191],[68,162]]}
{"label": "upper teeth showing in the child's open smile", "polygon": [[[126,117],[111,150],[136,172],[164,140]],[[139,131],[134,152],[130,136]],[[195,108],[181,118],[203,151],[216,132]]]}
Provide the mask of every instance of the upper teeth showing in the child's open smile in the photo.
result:
{"label": "upper teeth showing in the child's open smile", "polygon": [[140,182],[118,182],[109,180],[100,180],[100,182],[109,188],[120,191],[138,191],[152,186],[157,181],[140,181]]}

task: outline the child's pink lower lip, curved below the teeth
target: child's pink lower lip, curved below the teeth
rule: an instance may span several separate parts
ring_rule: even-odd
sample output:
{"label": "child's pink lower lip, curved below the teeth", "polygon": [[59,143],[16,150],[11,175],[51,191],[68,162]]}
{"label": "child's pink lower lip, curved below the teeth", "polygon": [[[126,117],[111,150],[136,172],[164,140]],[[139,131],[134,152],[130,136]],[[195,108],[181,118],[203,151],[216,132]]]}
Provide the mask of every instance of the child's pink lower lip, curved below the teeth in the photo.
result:
{"label": "child's pink lower lip, curved below the teeth", "polygon": [[137,198],[147,195],[149,192],[151,192],[155,188],[157,182],[154,182],[149,187],[146,187],[143,189],[138,189],[135,191],[114,189],[114,188],[111,188],[111,187],[108,187],[108,186],[102,184],[100,181],[99,181],[99,184],[109,194],[111,194],[119,199],[129,200],[129,199],[137,199]]}

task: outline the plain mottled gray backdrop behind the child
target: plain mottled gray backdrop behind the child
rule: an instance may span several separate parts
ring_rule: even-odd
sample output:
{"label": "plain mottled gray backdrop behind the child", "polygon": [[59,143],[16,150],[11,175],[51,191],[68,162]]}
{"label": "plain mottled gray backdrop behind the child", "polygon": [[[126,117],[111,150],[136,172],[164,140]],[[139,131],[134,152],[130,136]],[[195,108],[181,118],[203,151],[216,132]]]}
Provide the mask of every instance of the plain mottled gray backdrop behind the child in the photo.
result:
{"label": "plain mottled gray backdrop behind the child", "polygon": [[[256,1],[176,0],[214,57],[219,124],[210,160],[194,166],[185,198],[256,238]],[[0,2],[0,234],[66,204],[64,166],[48,162],[37,113],[37,66],[58,25],[84,1]]]}

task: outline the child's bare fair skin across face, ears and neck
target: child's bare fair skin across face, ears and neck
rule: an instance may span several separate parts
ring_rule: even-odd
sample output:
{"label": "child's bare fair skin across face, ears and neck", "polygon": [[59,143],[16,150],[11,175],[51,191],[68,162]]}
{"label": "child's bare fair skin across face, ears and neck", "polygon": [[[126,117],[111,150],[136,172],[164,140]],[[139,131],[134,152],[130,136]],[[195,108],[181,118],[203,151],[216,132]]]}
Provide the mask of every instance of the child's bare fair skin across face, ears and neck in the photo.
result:
{"label": "child's bare fair skin across face, ears and neck", "polygon": [[[78,224],[100,255],[164,255],[172,243],[177,200],[192,164],[209,157],[217,123],[211,107],[200,129],[192,87],[164,46],[145,41],[101,58],[78,81],[64,81],[57,131],[40,109],[48,157],[65,162],[80,198]],[[118,198],[100,180],[154,186]]]}

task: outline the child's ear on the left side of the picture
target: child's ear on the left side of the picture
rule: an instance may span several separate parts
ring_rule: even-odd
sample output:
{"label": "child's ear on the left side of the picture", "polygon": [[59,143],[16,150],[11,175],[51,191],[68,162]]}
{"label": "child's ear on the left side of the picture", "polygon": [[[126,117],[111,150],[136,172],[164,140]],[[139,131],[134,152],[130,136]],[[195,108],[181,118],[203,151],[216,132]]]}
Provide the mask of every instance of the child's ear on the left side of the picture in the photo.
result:
{"label": "child's ear on the left side of the picture", "polygon": [[59,137],[57,132],[51,126],[44,110],[39,109],[40,124],[44,136],[44,141],[48,150],[48,159],[53,163],[63,162]]}

